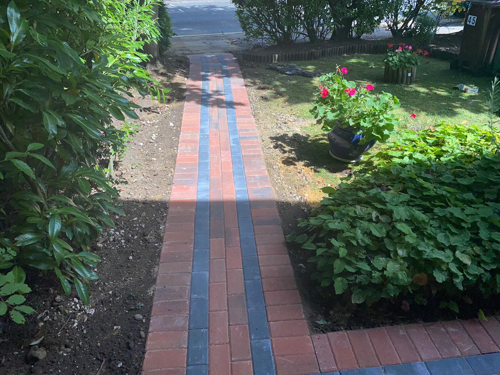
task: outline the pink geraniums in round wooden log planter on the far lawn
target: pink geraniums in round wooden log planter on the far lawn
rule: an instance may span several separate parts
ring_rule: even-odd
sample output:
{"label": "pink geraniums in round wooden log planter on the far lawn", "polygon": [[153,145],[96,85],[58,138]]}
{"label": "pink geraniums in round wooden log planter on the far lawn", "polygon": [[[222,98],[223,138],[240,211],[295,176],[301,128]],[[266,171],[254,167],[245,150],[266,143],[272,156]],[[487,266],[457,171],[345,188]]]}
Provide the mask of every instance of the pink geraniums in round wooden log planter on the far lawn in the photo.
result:
{"label": "pink geraniums in round wooden log planter on the far lawn", "polygon": [[420,55],[428,55],[429,52],[420,48],[412,48],[411,45],[399,43],[387,45],[387,55],[383,60],[385,69],[383,80],[389,83],[411,84],[415,82],[416,66],[420,63]]}

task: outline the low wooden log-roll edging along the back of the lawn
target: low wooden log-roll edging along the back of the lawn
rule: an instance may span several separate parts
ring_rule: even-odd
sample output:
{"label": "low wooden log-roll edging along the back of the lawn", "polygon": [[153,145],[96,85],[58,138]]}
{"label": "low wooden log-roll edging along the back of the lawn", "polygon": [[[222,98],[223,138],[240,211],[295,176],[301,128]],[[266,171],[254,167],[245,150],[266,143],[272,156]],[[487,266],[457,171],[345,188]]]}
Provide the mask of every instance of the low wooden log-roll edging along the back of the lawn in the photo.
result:
{"label": "low wooden log-roll edging along the back of the lawn", "polygon": [[[429,56],[441,60],[451,61],[458,57],[458,53],[446,51],[439,48],[427,48]],[[330,48],[320,48],[302,52],[287,52],[287,53],[243,53],[239,58],[241,61],[272,63],[283,61],[303,61],[316,60],[319,58],[331,57],[343,54],[383,54],[387,51],[387,43],[359,43],[348,44]]]}

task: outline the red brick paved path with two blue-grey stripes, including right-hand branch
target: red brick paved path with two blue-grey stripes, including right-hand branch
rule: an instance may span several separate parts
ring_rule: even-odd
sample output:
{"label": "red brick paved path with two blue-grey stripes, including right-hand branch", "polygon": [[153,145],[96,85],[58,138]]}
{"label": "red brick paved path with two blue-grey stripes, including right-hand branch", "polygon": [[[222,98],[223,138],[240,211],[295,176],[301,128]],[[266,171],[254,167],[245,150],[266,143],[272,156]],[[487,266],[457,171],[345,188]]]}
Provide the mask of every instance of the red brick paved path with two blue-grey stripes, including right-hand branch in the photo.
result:
{"label": "red brick paved path with two blue-grey stripes, including right-hand branch", "polygon": [[495,317],[311,336],[237,62],[190,63],[143,375],[500,373]]}

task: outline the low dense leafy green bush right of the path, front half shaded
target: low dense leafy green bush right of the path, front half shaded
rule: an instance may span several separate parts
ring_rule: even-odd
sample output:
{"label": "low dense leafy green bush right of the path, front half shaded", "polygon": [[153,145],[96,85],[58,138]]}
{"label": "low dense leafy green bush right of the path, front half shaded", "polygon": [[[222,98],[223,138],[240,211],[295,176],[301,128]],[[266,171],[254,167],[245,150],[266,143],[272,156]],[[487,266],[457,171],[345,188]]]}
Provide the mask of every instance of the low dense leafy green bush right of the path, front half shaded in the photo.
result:
{"label": "low dense leafy green bush right of the path, front half shaded", "polygon": [[[305,233],[314,278],[353,303],[500,292],[500,155],[491,133],[442,123],[403,131],[328,193]],[[369,163],[368,163],[369,164]]]}

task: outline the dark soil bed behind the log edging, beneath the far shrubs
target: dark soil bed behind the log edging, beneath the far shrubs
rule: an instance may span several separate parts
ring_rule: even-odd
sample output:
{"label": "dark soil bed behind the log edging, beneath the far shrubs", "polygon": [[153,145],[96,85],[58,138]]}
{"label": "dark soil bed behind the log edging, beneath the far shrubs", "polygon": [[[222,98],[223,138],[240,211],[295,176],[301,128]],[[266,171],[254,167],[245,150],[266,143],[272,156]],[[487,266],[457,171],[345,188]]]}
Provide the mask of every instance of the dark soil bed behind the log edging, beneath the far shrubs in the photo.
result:
{"label": "dark soil bed behind the log edging, beneath the far shrubs", "polygon": [[[434,37],[434,40],[429,44],[429,47],[445,49],[452,52],[460,51],[460,44],[462,40],[461,31],[451,33],[451,34],[439,34]],[[380,42],[387,42],[397,44],[401,41],[404,41],[406,44],[411,45],[413,40],[408,37],[398,37],[398,38],[384,38],[384,39],[344,39],[344,40],[321,40],[317,43],[310,43],[309,41],[300,41],[297,43],[292,43],[286,46],[279,45],[268,45],[264,47],[254,46],[253,48],[242,51],[242,53],[286,53],[286,52],[302,52],[302,51],[310,51],[315,49],[322,48],[330,48],[337,47],[343,45],[351,45],[351,44],[360,44],[360,43],[368,43],[368,44],[376,44]]]}

